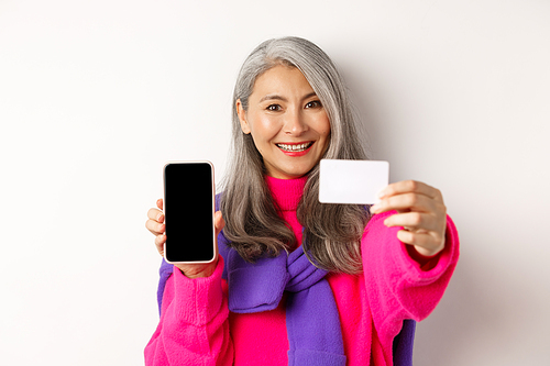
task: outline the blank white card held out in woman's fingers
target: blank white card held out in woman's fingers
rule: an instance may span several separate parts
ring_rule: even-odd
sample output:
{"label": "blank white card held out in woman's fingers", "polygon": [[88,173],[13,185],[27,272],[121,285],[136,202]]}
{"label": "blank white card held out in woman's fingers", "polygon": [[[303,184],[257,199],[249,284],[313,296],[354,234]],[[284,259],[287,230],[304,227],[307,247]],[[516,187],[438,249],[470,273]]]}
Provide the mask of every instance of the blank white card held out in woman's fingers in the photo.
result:
{"label": "blank white card held out in woman's fingers", "polygon": [[319,202],[374,204],[388,179],[388,162],[321,159]]}

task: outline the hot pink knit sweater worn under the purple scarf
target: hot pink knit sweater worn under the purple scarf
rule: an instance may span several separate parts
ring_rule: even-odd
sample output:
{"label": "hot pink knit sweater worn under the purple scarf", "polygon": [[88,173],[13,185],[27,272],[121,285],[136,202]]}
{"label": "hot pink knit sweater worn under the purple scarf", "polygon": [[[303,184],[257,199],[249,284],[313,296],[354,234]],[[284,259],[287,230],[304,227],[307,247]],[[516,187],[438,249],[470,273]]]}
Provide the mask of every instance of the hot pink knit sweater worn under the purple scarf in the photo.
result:
{"label": "hot pink knit sweater worn under the purple scarf", "polygon": [[[296,208],[305,178],[267,178],[279,214],[301,242]],[[395,213],[395,212],[394,212]],[[404,319],[420,321],[436,308],[459,258],[459,239],[448,218],[446,248],[424,268],[397,237],[398,228],[374,215],[362,237],[362,275],[329,274],[340,313],[348,365],[393,365],[392,344]],[[163,298],[161,320],[145,347],[155,365],[287,365],[285,297],[277,309],[240,314],[228,310],[223,258],[212,276],[189,279],[176,267]]]}

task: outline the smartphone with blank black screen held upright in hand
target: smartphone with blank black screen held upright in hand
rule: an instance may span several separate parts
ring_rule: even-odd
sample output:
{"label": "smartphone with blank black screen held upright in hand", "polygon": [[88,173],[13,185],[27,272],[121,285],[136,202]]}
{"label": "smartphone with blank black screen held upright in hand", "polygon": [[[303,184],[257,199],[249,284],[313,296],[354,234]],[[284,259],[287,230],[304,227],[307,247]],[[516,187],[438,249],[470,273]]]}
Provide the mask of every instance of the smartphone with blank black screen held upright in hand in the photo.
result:
{"label": "smartphone with blank black screen held upright in hand", "polygon": [[216,254],[212,163],[168,162],[163,177],[166,262],[212,262]]}

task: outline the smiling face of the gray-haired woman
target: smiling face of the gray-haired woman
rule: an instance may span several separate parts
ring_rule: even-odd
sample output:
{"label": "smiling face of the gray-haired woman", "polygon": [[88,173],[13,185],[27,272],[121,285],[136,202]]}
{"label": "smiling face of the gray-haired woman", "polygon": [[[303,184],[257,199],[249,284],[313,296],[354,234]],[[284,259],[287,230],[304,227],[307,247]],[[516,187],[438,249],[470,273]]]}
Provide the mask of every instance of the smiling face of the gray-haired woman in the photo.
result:
{"label": "smiling face of the gray-haired woman", "polygon": [[298,178],[311,170],[330,138],[330,123],[319,98],[295,67],[275,66],[261,75],[244,111],[237,101],[241,129],[252,134],[274,178]]}

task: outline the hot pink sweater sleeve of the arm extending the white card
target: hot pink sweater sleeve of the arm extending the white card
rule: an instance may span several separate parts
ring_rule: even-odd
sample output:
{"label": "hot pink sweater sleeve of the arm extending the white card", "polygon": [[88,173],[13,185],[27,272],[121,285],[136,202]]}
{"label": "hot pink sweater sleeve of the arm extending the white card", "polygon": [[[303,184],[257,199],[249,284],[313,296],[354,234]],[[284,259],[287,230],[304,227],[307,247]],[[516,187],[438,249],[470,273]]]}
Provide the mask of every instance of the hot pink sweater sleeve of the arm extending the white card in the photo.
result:
{"label": "hot pink sweater sleeve of the arm extending the white card", "polygon": [[402,228],[386,228],[384,219],[395,211],[374,215],[362,239],[362,255],[369,304],[374,326],[384,347],[392,354],[392,342],[403,320],[427,318],[441,300],[459,259],[457,229],[447,218],[444,249],[424,270],[397,239]]}

